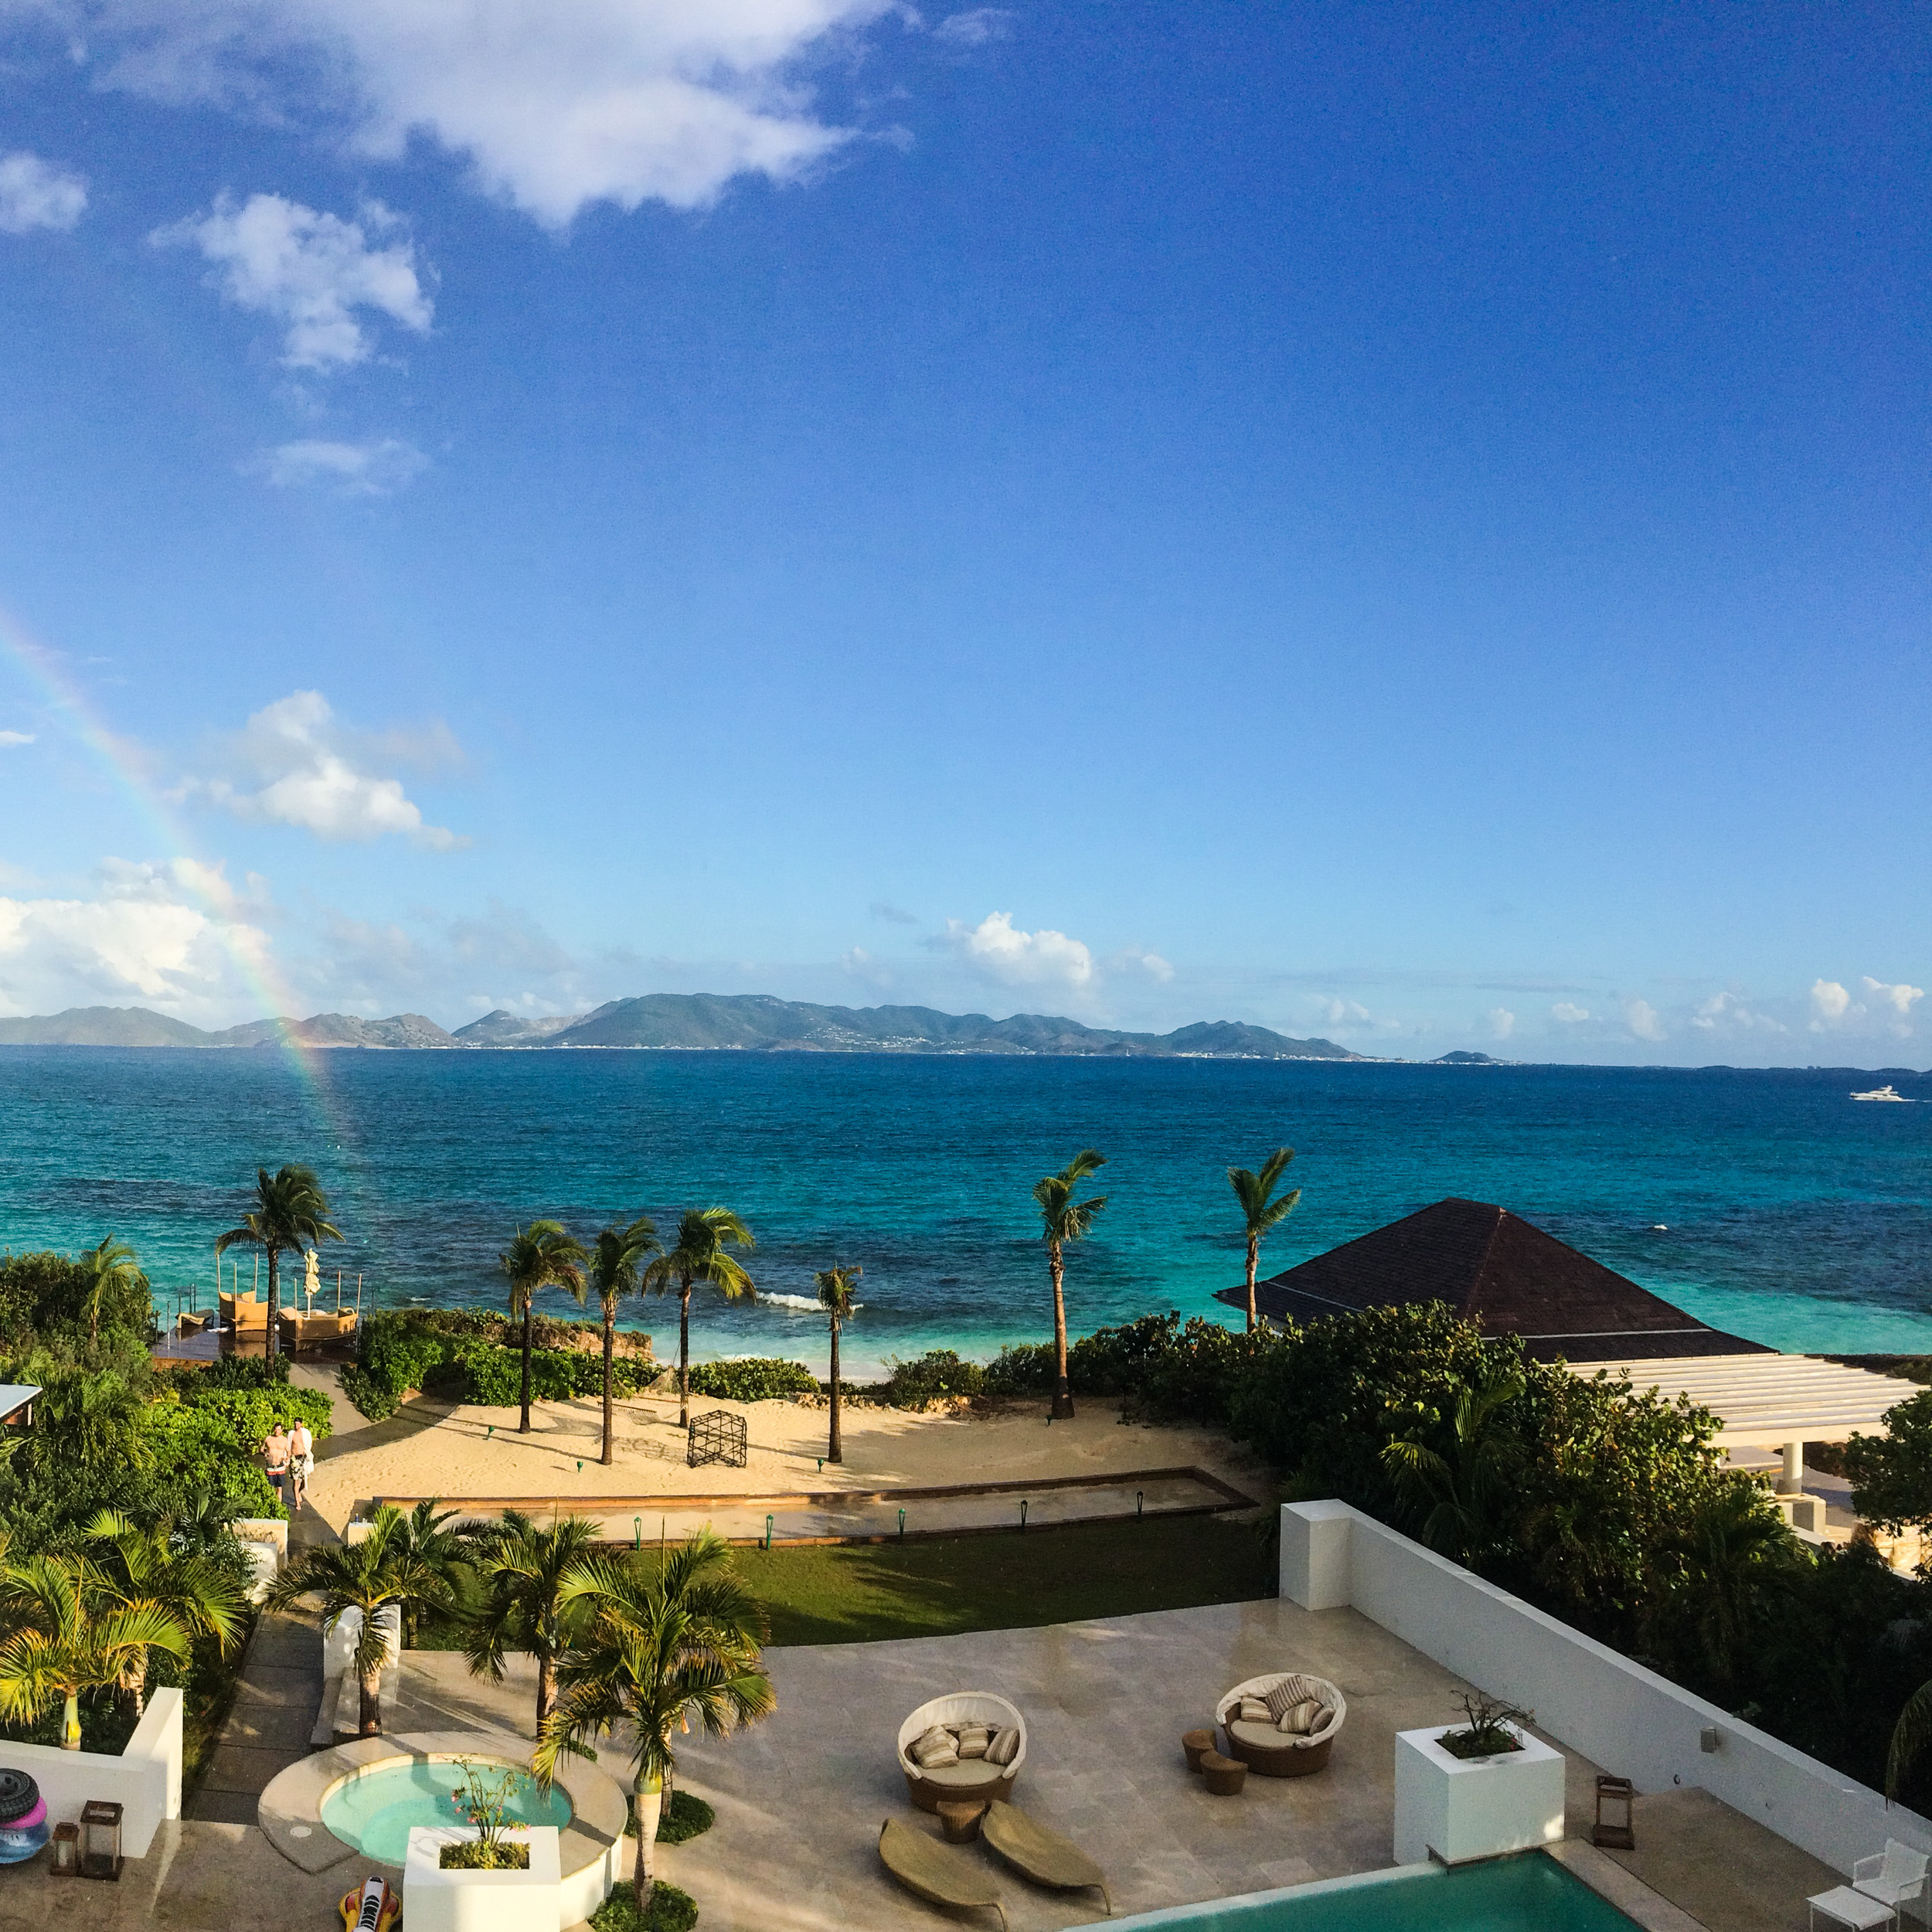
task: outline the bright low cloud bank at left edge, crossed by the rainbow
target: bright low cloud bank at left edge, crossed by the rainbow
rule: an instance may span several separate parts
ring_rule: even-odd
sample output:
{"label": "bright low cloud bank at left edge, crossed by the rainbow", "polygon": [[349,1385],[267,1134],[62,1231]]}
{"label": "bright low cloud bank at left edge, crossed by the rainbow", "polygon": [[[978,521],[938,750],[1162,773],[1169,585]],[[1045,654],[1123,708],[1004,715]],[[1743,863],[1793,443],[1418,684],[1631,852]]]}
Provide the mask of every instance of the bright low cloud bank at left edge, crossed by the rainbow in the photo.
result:
{"label": "bright low cloud bank at left edge, crossed by the rainbow", "polygon": [[[199,883],[189,875],[201,875]],[[0,1009],[232,1001],[263,962],[269,935],[189,902],[220,893],[240,904],[218,866],[108,860],[95,898],[0,896]]]}

